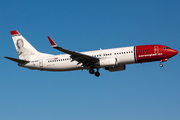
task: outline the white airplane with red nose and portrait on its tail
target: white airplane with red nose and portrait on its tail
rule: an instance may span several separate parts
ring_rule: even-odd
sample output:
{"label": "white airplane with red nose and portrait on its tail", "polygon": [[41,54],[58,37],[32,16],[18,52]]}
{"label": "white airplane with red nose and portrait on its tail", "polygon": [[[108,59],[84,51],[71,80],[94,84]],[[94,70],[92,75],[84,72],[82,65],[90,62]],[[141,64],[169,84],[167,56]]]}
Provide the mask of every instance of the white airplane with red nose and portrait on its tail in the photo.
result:
{"label": "white airplane with red nose and portrait on its tail", "polygon": [[[127,64],[168,61],[178,54],[165,45],[139,45],[114,49],[100,49],[87,52],[76,52],[59,47],[49,36],[51,46],[63,53],[52,55],[38,52],[17,30],[10,31],[19,59],[4,57],[12,60],[20,67],[41,71],[71,71],[87,69],[90,74],[100,76],[99,69],[109,72],[122,71]],[[96,71],[94,70],[96,69]]]}

